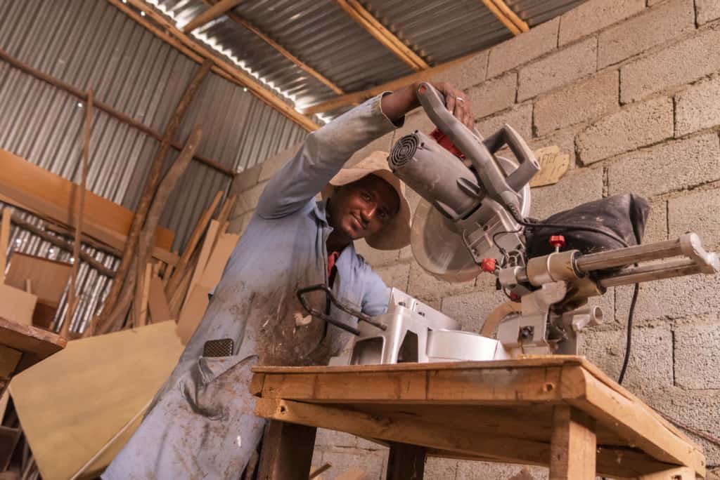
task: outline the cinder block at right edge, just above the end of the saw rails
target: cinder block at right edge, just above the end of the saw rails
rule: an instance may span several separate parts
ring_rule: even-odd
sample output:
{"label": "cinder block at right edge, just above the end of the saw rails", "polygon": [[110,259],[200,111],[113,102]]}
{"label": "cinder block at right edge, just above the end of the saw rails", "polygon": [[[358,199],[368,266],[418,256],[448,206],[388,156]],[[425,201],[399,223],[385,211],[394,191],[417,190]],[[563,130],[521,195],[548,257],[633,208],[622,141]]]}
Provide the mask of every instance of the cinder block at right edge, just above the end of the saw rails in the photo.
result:
{"label": "cinder block at right edge, just above the end of the saw rails", "polygon": [[693,231],[708,249],[720,247],[720,190],[690,193],[667,203],[670,238]]}

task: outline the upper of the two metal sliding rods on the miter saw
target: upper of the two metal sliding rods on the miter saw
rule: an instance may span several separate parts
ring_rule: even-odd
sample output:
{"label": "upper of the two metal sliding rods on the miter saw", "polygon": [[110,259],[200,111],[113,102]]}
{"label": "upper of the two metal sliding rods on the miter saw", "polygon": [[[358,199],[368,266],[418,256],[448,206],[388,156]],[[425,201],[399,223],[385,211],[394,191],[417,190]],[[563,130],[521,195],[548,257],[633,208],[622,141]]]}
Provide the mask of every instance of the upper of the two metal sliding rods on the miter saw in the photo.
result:
{"label": "upper of the two metal sliding rods on the miter saw", "polygon": [[637,262],[657,260],[682,255],[680,239],[659,241],[654,244],[626,246],[625,248],[600,251],[578,257],[575,267],[580,272],[593,272],[613,267],[623,267]]}

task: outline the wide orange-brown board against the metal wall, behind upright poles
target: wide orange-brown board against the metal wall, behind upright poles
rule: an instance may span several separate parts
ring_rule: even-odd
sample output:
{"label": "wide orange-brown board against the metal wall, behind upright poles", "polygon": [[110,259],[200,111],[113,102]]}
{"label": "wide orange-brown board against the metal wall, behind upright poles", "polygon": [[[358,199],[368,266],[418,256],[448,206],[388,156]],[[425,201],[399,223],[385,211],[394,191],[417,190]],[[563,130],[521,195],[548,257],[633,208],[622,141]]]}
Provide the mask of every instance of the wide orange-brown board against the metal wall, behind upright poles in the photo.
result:
{"label": "wide orange-brown board against the metal wall, behind upright poles", "polygon": [[[3,166],[0,169],[0,193],[55,221],[75,226],[72,206],[77,185],[7,150],[0,149],[0,164]],[[91,192],[86,194],[85,202],[84,233],[110,245],[117,244],[118,239],[124,244],[130,231],[132,212]],[[172,231],[158,227],[156,246],[170,249],[174,236]]]}

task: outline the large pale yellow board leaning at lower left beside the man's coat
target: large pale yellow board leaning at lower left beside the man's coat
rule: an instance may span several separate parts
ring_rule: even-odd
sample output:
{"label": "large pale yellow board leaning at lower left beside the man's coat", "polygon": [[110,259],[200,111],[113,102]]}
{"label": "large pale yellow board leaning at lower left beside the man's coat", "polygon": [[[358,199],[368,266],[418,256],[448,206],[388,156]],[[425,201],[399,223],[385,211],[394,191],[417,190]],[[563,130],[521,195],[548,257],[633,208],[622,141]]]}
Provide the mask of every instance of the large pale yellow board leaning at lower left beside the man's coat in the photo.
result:
{"label": "large pale yellow board leaning at lower left beside the man's coat", "polygon": [[[174,322],[156,323],[71,341],[14,377],[10,394],[42,478],[71,478],[153,398],[182,349]],[[98,475],[139,423],[86,474]]]}

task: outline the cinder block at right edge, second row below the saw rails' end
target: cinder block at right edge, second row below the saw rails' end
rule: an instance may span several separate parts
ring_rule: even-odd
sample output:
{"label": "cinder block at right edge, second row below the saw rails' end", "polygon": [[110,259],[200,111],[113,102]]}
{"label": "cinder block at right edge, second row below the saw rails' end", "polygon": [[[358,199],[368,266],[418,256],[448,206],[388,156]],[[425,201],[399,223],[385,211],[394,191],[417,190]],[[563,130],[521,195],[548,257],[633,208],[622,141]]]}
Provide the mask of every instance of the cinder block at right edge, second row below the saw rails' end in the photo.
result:
{"label": "cinder block at right edge, second row below the saw rails' end", "polygon": [[685,389],[720,389],[720,323],[675,328],[675,383]]}

